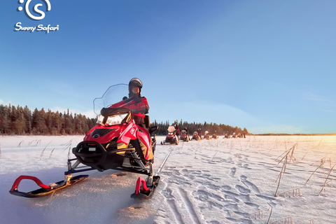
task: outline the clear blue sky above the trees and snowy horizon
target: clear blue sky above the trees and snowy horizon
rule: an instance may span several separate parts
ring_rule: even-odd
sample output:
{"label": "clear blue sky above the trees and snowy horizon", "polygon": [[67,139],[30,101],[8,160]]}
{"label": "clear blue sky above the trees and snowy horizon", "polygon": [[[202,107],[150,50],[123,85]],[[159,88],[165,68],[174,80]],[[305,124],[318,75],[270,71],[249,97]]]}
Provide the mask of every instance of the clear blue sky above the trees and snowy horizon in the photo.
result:
{"label": "clear blue sky above the trees and snowy horizon", "polygon": [[152,121],[336,133],[336,1],[27,1],[0,2],[0,104],[93,117],[137,77]]}

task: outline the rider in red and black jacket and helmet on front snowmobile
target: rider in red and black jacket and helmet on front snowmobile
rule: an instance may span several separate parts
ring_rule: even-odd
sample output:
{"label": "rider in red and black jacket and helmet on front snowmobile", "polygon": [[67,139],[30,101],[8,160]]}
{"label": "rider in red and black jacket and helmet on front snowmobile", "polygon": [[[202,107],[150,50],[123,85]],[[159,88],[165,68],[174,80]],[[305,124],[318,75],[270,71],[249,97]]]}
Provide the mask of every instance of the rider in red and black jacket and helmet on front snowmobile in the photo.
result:
{"label": "rider in red and black jacket and helmet on front snowmobile", "polygon": [[113,104],[110,108],[125,107],[131,109],[134,123],[145,128],[144,118],[149,111],[149,106],[146,97],[141,97],[141,88],[141,80],[132,78],[128,84],[128,98],[124,97],[125,99]]}

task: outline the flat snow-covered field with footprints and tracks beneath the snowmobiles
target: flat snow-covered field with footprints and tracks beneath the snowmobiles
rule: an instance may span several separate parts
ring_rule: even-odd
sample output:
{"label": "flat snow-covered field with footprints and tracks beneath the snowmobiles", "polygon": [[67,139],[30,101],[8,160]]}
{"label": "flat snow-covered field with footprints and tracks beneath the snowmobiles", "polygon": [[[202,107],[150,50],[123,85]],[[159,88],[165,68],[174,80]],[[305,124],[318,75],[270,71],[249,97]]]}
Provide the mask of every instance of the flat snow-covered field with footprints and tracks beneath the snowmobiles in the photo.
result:
{"label": "flat snow-covered field with footprints and tracks beneath the snowmobiles", "polygon": [[[113,170],[87,172],[86,181],[48,197],[8,193],[20,175],[45,184],[64,179],[71,148],[82,139],[0,137],[1,224],[336,223],[335,136],[157,144],[161,181],[151,200],[130,197],[139,174]],[[36,187],[22,181],[19,190]]]}

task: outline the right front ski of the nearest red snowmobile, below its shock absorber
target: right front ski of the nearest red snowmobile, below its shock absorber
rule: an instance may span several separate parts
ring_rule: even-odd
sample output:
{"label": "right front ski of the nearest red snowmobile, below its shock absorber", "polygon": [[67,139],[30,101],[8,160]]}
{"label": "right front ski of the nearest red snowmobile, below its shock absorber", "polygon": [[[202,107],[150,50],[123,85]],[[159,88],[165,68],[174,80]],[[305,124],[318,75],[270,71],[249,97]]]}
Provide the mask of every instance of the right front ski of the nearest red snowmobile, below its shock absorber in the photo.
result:
{"label": "right front ski of the nearest red snowmobile, below its shock absorber", "polygon": [[155,189],[159,184],[159,181],[160,176],[153,176],[153,185],[147,186],[146,181],[142,177],[139,177],[135,193],[133,193],[131,197],[139,199],[150,199],[153,196]]}

